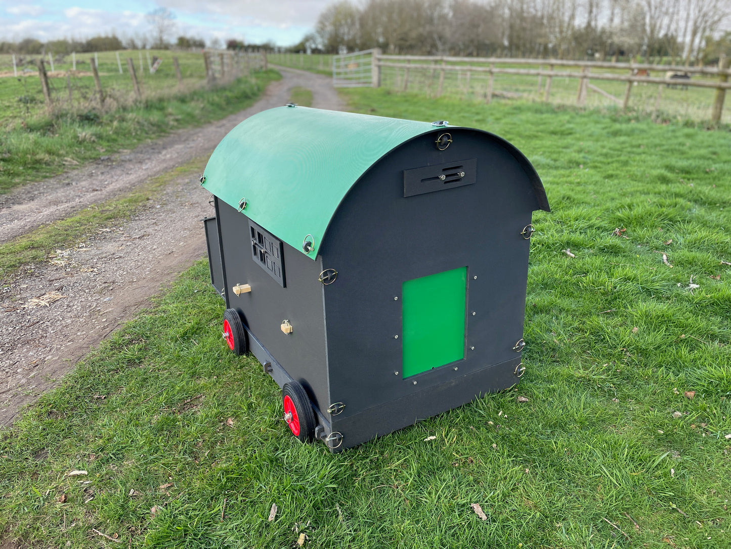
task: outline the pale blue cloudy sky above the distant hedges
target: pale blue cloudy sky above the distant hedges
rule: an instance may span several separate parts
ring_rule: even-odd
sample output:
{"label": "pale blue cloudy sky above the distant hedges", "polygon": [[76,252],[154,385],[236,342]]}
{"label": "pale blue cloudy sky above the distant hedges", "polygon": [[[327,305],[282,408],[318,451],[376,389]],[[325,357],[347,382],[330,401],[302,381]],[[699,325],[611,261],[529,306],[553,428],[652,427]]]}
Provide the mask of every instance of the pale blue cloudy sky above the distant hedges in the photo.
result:
{"label": "pale blue cloudy sky above the distant hedges", "polygon": [[167,7],[175,15],[175,37],[235,38],[246,43],[271,40],[292,45],[314,29],[332,0],[0,0],[0,41],[33,37],[84,40],[115,32],[151,36],[145,15]]}

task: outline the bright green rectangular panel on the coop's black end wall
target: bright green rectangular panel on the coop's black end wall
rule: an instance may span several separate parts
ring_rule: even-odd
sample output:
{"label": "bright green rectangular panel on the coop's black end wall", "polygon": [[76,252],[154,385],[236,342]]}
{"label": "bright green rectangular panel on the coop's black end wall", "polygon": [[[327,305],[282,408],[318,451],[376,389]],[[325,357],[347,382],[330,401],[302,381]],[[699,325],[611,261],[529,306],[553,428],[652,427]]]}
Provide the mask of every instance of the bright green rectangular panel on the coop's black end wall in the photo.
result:
{"label": "bright green rectangular panel on the coop's black end wall", "polygon": [[403,377],[464,358],[467,267],[401,285]]}

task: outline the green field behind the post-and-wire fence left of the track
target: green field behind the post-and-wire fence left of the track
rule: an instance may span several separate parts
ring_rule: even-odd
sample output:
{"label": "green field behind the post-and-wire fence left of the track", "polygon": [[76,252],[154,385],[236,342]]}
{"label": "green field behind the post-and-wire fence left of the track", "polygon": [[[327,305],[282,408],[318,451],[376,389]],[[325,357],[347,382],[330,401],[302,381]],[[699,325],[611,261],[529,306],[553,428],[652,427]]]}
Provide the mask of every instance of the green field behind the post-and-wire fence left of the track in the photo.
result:
{"label": "green field behind the post-and-wire fence left of the track", "polygon": [[[99,52],[99,75],[102,89],[110,105],[126,105],[134,98],[132,79],[130,78],[126,59],[134,61],[135,72],[145,97],[156,97],[179,91],[178,80],[173,67],[173,56],[178,57],[183,85],[186,91],[196,89],[205,83],[205,64],[200,52],[183,52],[167,50],[121,51],[119,52],[122,72],[119,72],[116,53]],[[154,56],[162,59],[159,69],[151,74],[148,66]],[[49,83],[53,100],[61,108],[95,108],[98,105],[94,78],[91,75],[90,59],[94,53],[77,53],[76,70],[67,80],[67,71],[72,70],[72,56],[54,56],[54,72],[50,74]],[[39,56],[23,56],[23,64],[18,66],[18,78],[13,76],[12,57],[0,55],[0,128],[17,124],[23,119],[45,112],[45,100],[41,91],[38,69],[31,61]],[[44,57],[46,70],[51,66],[48,55]],[[214,70],[220,74],[219,58],[213,56]],[[243,69],[244,67],[242,67]],[[72,99],[69,100],[69,88]]]}

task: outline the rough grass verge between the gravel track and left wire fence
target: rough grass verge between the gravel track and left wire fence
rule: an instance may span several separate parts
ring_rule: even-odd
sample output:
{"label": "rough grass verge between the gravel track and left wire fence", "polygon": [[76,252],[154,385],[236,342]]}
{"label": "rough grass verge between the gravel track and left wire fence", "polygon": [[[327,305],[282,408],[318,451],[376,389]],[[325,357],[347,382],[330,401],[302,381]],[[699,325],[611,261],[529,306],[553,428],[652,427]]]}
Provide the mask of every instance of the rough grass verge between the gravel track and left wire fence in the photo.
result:
{"label": "rough grass verge between the gravel track and left wire fence", "polygon": [[115,111],[90,108],[28,119],[0,133],[0,193],[53,176],[182,127],[221,119],[251,105],[275,71],[227,86],[150,99]]}

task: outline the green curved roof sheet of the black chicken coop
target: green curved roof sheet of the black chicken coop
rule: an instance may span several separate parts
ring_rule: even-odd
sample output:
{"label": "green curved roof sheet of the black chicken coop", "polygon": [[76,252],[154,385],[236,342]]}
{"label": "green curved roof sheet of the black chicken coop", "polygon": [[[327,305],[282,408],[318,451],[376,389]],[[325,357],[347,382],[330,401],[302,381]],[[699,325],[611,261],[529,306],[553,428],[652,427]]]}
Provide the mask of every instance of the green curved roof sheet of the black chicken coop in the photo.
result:
{"label": "green curved roof sheet of the black chicken coop", "polygon": [[277,238],[317,255],[338,205],[357,179],[396,146],[435,130],[414,122],[306,107],[254,114],[211,154],[203,187]]}

